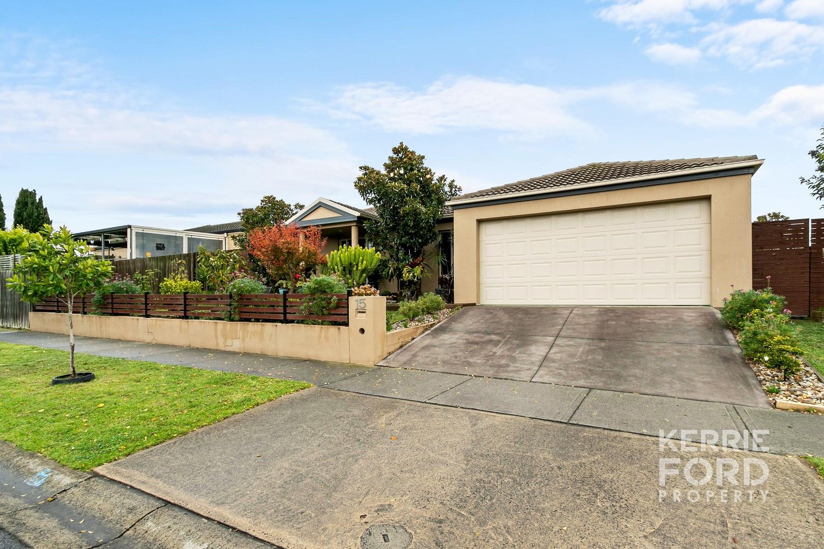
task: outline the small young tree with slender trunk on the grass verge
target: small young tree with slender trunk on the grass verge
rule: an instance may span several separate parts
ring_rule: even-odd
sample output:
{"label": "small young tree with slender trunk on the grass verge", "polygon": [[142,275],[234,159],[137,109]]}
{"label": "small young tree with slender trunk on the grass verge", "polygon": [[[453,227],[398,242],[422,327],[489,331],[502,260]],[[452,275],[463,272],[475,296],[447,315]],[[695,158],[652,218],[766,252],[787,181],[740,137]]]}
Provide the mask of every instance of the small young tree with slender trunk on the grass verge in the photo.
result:
{"label": "small young tree with slender trunk on the grass verge", "polygon": [[71,377],[74,369],[74,326],[72,314],[77,295],[94,291],[111,276],[111,263],[98,261],[87,244],[73,240],[63,226],[58,230],[44,225],[21,244],[23,258],[14,268],[8,285],[22,300],[37,303],[55,296],[68,313],[68,348]]}

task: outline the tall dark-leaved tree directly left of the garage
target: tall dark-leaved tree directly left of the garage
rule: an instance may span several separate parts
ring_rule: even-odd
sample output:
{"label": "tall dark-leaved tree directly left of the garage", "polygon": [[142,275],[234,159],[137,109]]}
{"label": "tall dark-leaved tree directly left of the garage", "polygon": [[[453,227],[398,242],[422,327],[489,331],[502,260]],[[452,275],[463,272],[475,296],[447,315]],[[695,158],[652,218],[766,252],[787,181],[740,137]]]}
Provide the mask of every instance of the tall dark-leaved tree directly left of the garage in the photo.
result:
{"label": "tall dark-leaved tree directly left of the garage", "polygon": [[[461,193],[455,179],[436,176],[424,165],[425,157],[403,142],[392,149],[383,171],[360,167],[355,188],[372,204],[377,220],[364,222],[367,238],[386,257],[384,275],[419,284],[415,272],[424,261],[424,249],[438,239],[435,225],[447,200]],[[404,276],[404,273],[410,273]]]}

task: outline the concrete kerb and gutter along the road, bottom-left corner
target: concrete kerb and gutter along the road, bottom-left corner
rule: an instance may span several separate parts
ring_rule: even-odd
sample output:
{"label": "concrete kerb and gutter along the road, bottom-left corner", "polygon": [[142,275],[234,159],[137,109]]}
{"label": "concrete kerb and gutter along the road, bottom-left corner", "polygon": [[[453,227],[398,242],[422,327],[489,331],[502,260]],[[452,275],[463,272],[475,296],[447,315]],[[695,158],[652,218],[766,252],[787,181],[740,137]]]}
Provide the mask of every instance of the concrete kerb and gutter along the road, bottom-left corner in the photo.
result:
{"label": "concrete kerb and gutter along the road, bottom-left corner", "polygon": [[95,473],[0,442],[0,547],[273,547]]}

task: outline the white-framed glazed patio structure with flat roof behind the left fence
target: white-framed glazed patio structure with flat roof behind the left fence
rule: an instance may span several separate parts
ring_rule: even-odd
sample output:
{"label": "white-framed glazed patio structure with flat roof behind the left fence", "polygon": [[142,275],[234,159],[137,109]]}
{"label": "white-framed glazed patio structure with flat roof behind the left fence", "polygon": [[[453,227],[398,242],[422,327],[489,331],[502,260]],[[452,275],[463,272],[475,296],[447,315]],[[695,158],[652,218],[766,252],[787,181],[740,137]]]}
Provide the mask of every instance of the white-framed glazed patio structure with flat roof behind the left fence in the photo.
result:
{"label": "white-framed glazed patio structure with flat roof behind the left fence", "polygon": [[123,225],[74,233],[86,240],[98,258],[134,259],[162,255],[187,254],[203,246],[210,252],[227,249],[226,235],[196,230],[157,229]]}

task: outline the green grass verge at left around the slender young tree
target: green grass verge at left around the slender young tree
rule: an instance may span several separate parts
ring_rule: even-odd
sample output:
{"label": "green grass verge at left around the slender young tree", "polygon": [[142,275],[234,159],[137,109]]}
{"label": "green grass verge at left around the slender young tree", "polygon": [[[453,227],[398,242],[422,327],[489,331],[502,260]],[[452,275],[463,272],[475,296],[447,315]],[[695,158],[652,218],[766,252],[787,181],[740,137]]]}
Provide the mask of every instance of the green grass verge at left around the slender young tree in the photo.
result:
{"label": "green grass verge at left around the slender young tree", "polygon": [[87,471],[311,384],[0,342],[0,439]]}

